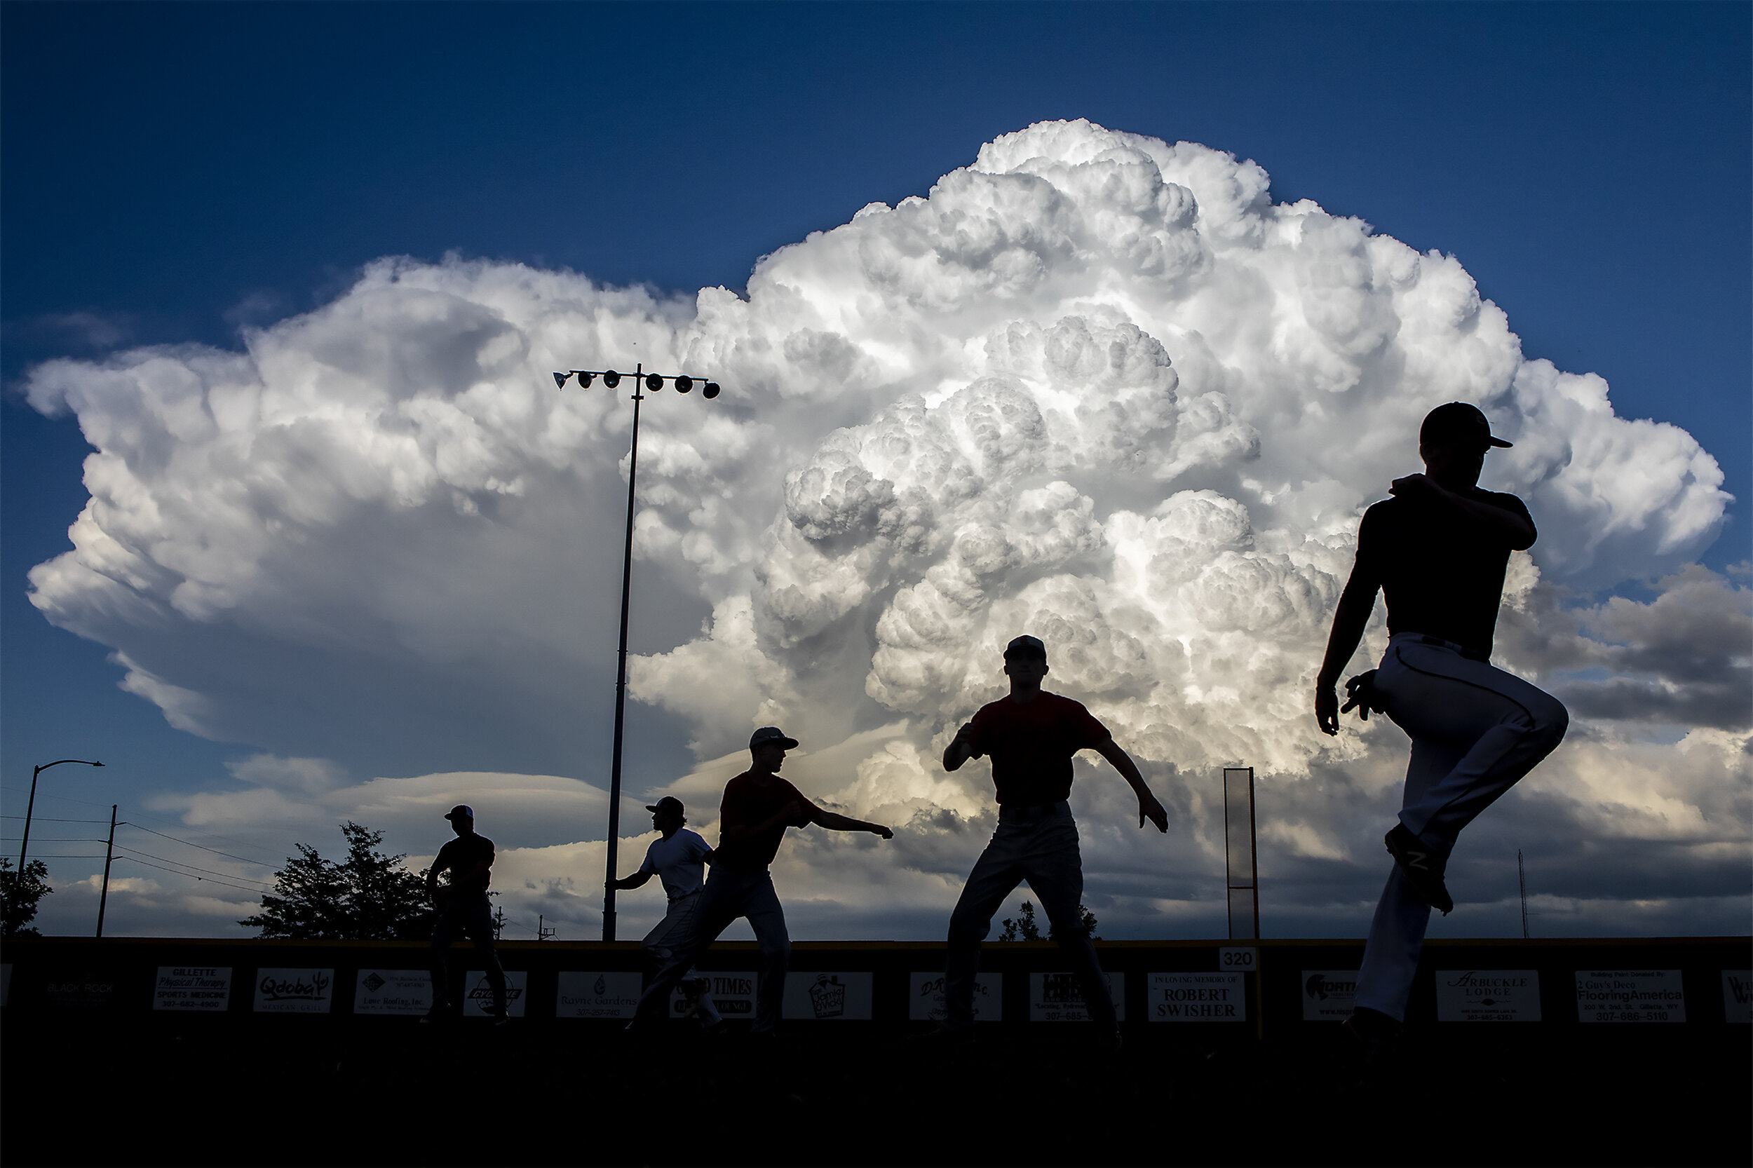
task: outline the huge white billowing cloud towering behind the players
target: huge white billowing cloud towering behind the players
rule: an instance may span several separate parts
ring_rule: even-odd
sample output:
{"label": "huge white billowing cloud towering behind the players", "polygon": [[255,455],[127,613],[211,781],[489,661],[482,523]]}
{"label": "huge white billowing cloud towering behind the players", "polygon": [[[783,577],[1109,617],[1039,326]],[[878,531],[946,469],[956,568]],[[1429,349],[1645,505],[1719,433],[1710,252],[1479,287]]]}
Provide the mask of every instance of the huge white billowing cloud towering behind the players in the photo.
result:
{"label": "huge white billowing cloud towering behind the players", "polygon": [[[1625,742],[1637,723],[1753,721],[1730,700],[1744,638],[1720,640],[1746,588],[1686,566],[1730,502],[1697,440],[1525,360],[1457,260],[1273,203],[1259,165],[1204,146],[1036,125],[926,198],[766,256],[747,296],[386,260],[244,340],[30,374],[30,400],[74,410],[96,447],[74,551],[32,572],[33,603],[114,647],[124,686],[177,726],[277,758],[387,740],[494,775],[349,787],[249,761],[245,789],[186,800],[191,823],[321,808],[380,826],[500,784],[570,831],[528,840],[529,887],[601,847],[601,794],[510,775],[603,752],[577,710],[584,689],[607,702],[593,663],[612,644],[631,416],[624,393],[557,393],[549,372],[633,361],[726,386],[643,405],[638,603],[670,631],[631,661],[633,694],[715,759],[673,786],[691,807],[715,805],[749,730],[777,723],[812,751],[812,794],[903,828],[787,852],[822,914],[899,921],[954,898],[990,793],[982,765],[947,775],[936,754],[1003,693],[1018,631],[1048,642],[1050,686],[1115,730],[1176,819],[1169,840],[1122,830],[1125,789],[1080,770],[1092,896],[1124,919],[1204,912],[1225,763],[1259,768],[1262,838],[1287,865],[1373,861],[1380,842],[1346,817],[1385,819],[1404,738],[1320,737],[1308,686],[1359,514],[1416,468],[1418,421],[1448,400],[1516,444],[1487,486],[1541,524],[1511,570],[1506,665],[1569,684],[1600,719],[1588,733]],[[1650,602],[1560,605],[1655,577]],[[1650,716],[1625,686],[1669,700]],[[1706,805],[1650,779],[1704,749],[1683,744],[1599,756],[1641,808],[1622,823]],[[1744,754],[1721,751],[1714,779],[1744,784]],[[1744,852],[1744,828],[1725,845]],[[589,889],[556,903],[600,886],[550,877]],[[1324,879],[1322,903],[1367,901]]]}

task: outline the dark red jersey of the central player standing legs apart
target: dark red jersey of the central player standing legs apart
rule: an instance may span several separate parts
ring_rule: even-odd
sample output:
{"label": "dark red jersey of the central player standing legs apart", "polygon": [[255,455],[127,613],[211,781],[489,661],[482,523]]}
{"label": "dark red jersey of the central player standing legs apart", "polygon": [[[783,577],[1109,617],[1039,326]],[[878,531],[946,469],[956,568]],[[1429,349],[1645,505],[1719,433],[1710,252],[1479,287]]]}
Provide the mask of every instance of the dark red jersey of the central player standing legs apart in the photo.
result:
{"label": "dark red jersey of the central player standing legs apart", "polygon": [[1071,798],[1071,756],[1113,735],[1096,716],[1057,693],[1034,702],[1008,694],[973,717],[973,747],[992,759],[999,803],[1057,803]]}

